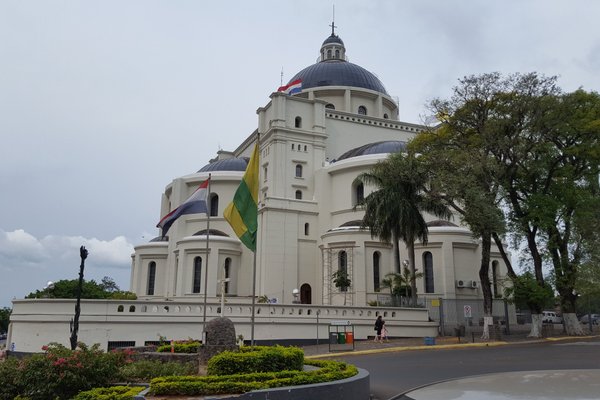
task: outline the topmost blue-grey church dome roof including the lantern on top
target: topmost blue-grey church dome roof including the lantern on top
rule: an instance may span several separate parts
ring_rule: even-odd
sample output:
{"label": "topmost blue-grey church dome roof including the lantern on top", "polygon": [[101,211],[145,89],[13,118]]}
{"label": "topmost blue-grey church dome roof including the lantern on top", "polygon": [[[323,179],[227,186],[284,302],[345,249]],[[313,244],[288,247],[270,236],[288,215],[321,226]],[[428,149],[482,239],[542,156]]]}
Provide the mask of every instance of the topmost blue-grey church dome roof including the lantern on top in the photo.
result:
{"label": "topmost blue-grey church dome roof including the lantern on top", "polygon": [[351,86],[388,95],[373,73],[347,61],[344,42],[333,32],[333,28],[331,35],[321,45],[319,62],[298,72],[288,84],[298,79],[302,80],[302,90],[322,86]]}

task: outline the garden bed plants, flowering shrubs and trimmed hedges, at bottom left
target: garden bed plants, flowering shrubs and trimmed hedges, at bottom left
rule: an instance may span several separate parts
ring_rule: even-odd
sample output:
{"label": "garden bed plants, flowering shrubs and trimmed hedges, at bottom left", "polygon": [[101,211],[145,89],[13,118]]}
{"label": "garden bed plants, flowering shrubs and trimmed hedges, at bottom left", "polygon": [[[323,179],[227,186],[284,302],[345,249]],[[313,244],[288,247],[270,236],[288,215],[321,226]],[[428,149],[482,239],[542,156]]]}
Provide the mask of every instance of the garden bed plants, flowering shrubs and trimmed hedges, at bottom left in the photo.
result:
{"label": "garden bed plants, flowering shrubs and trimmed hedges, at bottom left", "polygon": [[[185,342],[161,350],[194,353],[199,347]],[[221,352],[208,361],[205,375],[198,374],[197,363],[148,360],[132,349],[107,353],[97,345],[79,344],[72,351],[50,344],[43,351],[0,362],[0,400],[133,399],[146,389],[141,383],[149,383],[149,395],[241,394],[337,381],[358,373],[356,367],[342,362],[305,361],[302,349],[283,346]]]}

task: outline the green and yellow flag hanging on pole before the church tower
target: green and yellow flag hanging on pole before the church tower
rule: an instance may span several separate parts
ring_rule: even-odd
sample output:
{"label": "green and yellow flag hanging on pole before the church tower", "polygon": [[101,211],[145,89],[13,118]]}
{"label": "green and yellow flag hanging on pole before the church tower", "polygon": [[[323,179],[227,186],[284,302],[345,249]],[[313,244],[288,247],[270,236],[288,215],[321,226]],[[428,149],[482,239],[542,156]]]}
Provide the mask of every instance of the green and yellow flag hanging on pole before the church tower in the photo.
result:
{"label": "green and yellow flag hanging on pole before the church tower", "polygon": [[256,251],[256,228],[258,225],[258,143],[254,145],[250,162],[223,216],[242,243]]}

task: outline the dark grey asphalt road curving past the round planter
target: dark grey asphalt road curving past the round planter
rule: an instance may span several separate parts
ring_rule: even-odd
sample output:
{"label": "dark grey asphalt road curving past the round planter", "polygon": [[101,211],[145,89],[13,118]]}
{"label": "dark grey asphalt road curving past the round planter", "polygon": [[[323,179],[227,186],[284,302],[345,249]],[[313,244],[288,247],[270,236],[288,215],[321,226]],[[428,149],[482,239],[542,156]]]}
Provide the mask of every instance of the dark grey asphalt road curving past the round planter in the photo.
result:
{"label": "dark grey asphalt road curving past the round planter", "polygon": [[339,359],[369,371],[373,398],[384,400],[415,387],[465,376],[545,369],[600,369],[600,339],[345,355]]}

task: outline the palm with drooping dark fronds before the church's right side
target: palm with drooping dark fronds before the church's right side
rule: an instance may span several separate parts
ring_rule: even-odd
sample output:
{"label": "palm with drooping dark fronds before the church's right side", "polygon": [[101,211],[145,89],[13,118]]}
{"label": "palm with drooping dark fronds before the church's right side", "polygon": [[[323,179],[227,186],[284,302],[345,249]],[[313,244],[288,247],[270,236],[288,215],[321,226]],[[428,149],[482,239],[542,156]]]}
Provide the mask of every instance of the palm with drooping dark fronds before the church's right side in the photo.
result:
{"label": "palm with drooping dark fronds before the church's right side", "polygon": [[427,173],[414,154],[394,153],[357,178],[375,190],[357,204],[365,210],[362,226],[371,236],[394,247],[395,272],[400,273],[399,240],[406,243],[411,273],[411,305],[417,304],[415,241],[427,244],[428,229],[423,213],[450,219],[445,203],[425,194]]}

